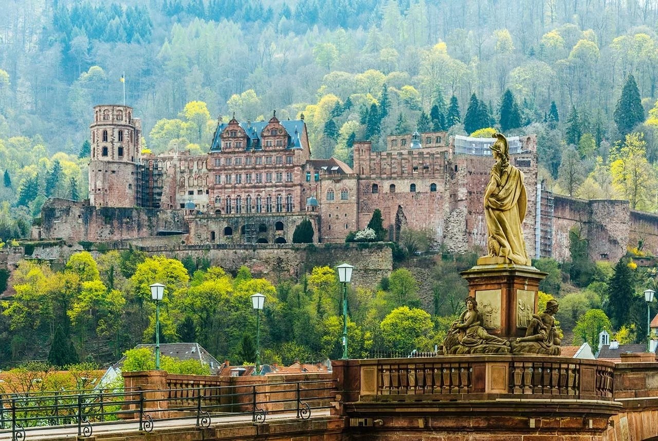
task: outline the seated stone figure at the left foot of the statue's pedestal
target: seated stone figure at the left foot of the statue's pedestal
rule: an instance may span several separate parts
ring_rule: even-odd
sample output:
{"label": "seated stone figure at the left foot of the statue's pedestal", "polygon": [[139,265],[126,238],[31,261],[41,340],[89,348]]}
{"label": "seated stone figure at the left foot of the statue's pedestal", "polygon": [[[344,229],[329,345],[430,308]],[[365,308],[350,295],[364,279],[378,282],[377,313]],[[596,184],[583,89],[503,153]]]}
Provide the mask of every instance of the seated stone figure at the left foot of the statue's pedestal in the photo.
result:
{"label": "seated stone figure at the left foot of the statue's pedestal", "polygon": [[484,319],[478,311],[478,302],[469,296],[466,311],[452,324],[443,341],[443,353],[509,352],[509,342],[489,334],[482,323]]}

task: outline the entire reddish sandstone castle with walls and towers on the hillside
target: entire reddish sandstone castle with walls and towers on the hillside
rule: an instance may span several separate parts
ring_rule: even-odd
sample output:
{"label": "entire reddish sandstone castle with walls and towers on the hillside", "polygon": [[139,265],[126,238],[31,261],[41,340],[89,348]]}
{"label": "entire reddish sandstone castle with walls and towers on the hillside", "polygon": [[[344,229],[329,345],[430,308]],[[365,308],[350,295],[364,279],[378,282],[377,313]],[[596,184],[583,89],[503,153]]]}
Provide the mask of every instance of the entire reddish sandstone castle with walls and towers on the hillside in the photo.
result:
{"label": "entire reddish sandstone castle with walls and towers on the hillside", "polygon": [[[180,244],[232,247],[292,242],[311,221],[314,242],[344,242],[382,212],[389,239],[424,230],[453,253],[485,249],[484,188],[493,139],[447,132],[388,136],[386,151],[353,145],[353,167],[313,159],[299,120],[218,120],[208,153],[141,151],[141,124],[122,105],[94,108],[89,199],[49,199],[35,238],[69,242],[177,236]],[[524,236],[531,257],[569,259],[578,226],[594,259],[619,259],[642,241],[658,253],[658,217],[625,201],[552,195],[537,179],[536,137],[509,138],[511,162],[525,175]]]}

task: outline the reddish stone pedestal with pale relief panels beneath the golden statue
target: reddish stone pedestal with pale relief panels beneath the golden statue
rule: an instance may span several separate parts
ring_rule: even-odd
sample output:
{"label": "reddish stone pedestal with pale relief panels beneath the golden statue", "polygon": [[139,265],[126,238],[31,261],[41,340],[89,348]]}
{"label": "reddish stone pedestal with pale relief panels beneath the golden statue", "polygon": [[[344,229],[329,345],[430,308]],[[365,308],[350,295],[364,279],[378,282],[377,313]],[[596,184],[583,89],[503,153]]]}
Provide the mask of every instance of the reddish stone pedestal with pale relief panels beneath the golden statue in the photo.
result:
{"label": "reddish stone pedestal with pale relief panels beneath the golden statue", "polygon": [[468,280],[468,295],[478,302],[489,334],[522,337],[537,313],[539,283],[547,275],[535,267],[500,263],[500,257],[480,257],[478,265],[461,276]]}

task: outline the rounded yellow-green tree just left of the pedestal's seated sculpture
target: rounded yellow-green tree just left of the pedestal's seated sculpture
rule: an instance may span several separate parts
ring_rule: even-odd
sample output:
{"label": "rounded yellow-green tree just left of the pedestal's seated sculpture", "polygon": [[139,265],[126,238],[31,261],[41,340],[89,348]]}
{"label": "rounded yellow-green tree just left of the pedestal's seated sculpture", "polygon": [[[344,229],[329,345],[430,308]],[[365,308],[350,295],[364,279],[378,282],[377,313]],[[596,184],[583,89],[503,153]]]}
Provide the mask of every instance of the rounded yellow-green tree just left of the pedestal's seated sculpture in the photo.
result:
{"label": "rounded yellow-green tree just left of the pedestal's seated sculpture", "polygon": [[393,309],[380,323],[386,349],[403,353],[430,350],[433,328],[432,318],[426,311],[408,306]]}

